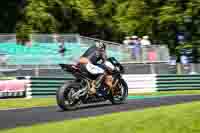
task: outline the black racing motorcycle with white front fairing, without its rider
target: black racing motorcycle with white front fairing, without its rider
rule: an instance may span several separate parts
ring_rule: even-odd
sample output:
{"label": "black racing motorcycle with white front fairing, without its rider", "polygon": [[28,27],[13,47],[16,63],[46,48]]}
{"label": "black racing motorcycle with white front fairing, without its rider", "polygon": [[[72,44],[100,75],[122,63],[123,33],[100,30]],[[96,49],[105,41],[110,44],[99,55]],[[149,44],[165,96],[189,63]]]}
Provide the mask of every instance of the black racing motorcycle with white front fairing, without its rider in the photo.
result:
{"label": "black racing motorcycle with white front fairing, without its rider", "polygon": [[62,110],[77,109],[80,104],[91,104],[105,102],[109,100],[112,104],[124,103],[128,96],[128,86],[122,78],[124,73],[123,66],[114,58],[106,60],[105,71],[112,75],[112,88],[105,84],[105,77],[101,79],[100,86],[96,88],[97,94],[89,93],[93,81],[98,75],[91,75],[89,72],[82,71],[80,65],[60,64],[61,68],[71,73],[75,79],[66,81],[56,92],[58,106]]}

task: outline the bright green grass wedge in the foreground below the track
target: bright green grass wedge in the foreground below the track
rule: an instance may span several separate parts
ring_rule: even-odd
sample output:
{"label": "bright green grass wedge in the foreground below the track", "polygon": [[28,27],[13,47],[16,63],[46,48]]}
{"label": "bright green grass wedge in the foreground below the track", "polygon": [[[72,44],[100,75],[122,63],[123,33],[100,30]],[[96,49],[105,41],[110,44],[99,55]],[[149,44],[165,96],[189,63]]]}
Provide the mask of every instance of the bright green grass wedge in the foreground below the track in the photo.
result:
{"label": "bright green grass wedge in the foreground below the track", "polygon": [[2,130],[1,133],[200,133],[200,102]]}

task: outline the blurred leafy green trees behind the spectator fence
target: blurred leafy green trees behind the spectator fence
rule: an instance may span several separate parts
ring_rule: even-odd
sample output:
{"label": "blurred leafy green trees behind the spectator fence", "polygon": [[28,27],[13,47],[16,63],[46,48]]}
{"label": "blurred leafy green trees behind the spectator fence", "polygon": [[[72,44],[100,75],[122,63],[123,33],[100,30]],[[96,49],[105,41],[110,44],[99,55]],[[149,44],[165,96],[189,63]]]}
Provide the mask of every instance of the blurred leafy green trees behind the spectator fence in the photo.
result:
{"label": "blurred leafy green trees behind the spectator fence", "polygon": [[183,32],[188,43],[198,45],[199,0],[26,0],[25,5],[17,9],[20,34],[80,33],[118,42],[126,35],[147,34],[174,53],[177,33]]}

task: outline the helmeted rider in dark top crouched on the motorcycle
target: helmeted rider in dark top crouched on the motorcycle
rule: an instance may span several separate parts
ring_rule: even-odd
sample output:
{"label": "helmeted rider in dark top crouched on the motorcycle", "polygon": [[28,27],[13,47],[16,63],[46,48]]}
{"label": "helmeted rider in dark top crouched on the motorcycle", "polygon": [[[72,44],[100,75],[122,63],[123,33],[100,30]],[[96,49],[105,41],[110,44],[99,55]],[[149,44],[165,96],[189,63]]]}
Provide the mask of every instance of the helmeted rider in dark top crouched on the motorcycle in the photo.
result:
{"label": "helmeted rider in dark top crouched on the motorcycle", "polygon": [[80,57],[79,64],[81,64],[87,72],[92,75],[98,75],[97,79],[93,81],[90,94],[96,94],[96,88],[100,87],[100,82],[103,77],[106,77],[107,85],[112,86],[112,76],[105,72],[106,61],[106,45],[101,41],[97,41],[94,46],[89,47],[86,52]]}

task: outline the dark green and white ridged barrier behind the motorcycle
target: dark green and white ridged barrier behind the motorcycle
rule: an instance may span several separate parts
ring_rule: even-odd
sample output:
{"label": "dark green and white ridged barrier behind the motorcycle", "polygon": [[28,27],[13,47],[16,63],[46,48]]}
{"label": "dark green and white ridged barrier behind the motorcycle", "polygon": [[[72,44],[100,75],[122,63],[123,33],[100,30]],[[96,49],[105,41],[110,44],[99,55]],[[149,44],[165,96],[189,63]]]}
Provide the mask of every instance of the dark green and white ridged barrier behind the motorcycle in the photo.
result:
{"label": "dark green and white ridged barrier behind the motorcycle", "polygon": [[[129,93],[144,93],[168,90],[196,90],[200,89],[200,75],[123,75]],[[73,77],[18,77],[30,80],[26,89],[26,97],[53,96],[56,90]]]}

